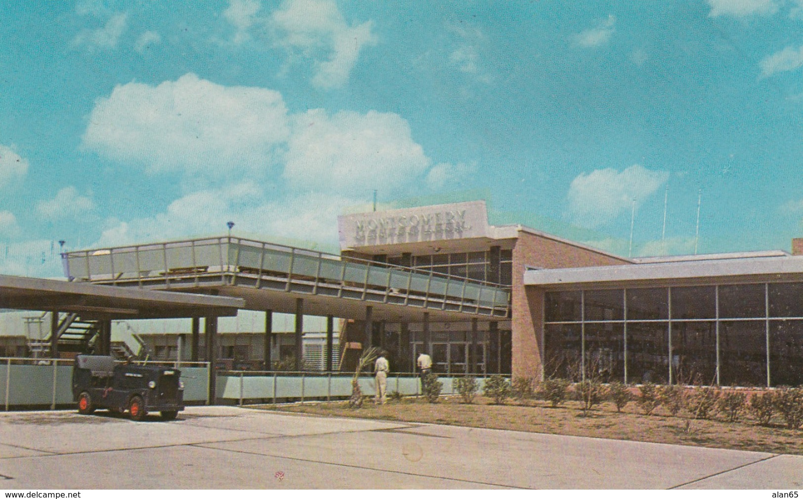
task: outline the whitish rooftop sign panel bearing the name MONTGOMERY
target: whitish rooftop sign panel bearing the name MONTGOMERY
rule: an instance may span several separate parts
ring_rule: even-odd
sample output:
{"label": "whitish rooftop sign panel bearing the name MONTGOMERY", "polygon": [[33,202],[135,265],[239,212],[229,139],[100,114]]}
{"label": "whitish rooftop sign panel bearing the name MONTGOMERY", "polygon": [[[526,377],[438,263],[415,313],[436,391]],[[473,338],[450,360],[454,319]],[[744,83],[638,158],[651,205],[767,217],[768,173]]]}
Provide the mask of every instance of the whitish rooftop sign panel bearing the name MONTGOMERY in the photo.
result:
{"label": "whitish rooftop sign panel bearing the name MONTGOMERY", "polygon": [[488,236],[485,201],[337,217],[340,249]]}

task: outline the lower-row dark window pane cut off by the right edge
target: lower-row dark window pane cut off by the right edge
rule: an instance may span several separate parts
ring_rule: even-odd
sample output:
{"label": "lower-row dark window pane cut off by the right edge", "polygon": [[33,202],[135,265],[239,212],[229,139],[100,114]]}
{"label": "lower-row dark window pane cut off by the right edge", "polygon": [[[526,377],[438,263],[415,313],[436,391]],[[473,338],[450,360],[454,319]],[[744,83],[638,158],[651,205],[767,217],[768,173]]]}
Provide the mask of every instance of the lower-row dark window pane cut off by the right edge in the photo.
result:
{"label": "lower-row dark window pane cut off by the right edge", "polygon": [[803,384],[803,321],[770,321],[769,377],[774,387]]}

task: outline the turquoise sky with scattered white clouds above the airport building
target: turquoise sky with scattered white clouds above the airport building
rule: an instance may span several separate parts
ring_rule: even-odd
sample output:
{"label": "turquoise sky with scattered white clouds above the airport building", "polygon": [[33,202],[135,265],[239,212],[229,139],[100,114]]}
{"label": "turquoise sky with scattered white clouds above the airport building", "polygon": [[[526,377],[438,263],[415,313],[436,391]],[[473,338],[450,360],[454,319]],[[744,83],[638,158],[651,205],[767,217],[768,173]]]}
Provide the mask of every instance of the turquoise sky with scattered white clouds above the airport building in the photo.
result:
{"label": "turquoise sky with scattered white clouds above the airport building", "polygon": [[803,0],[11,2],[0,273],[226,221],[336,249],[374,190],[623,256],[789,250],[801,75]]}

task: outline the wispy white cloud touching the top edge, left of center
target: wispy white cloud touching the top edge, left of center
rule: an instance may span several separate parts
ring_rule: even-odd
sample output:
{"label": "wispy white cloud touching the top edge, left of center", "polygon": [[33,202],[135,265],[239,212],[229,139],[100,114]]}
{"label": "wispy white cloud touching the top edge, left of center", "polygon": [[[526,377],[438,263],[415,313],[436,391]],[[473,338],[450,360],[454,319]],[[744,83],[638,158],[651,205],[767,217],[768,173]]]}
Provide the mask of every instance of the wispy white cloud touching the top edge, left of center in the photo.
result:
{"label": "wispy white cloud touching the top edge, left of center", "polygon": [[268,24],[280,46],[316,60],[312,84],[320,88],[341,87],[363,47],[377,43],[373,22],[349,26],[332,0],[285,0]]}

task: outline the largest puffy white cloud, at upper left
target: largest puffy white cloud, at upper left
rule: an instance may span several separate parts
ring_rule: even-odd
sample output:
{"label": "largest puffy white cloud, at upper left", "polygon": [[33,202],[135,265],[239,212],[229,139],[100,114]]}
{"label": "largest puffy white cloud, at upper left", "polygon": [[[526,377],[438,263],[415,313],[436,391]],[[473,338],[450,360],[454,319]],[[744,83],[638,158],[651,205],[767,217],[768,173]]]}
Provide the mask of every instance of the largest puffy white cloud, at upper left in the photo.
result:
{"label": "largest puffy white cloud, at upper left", "polygon": [[266,172],[288,133],[279,92],[223,87],[190,73],[156,87],[115,87],[92,109],[82,147],[148,172],[222,178]]}

